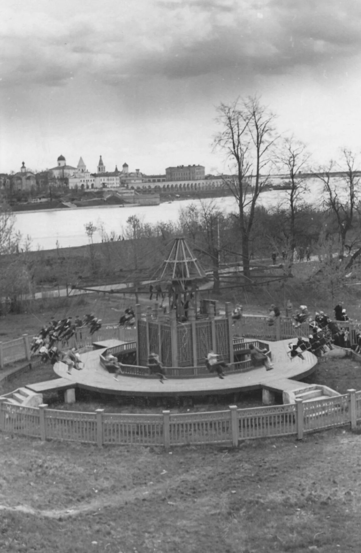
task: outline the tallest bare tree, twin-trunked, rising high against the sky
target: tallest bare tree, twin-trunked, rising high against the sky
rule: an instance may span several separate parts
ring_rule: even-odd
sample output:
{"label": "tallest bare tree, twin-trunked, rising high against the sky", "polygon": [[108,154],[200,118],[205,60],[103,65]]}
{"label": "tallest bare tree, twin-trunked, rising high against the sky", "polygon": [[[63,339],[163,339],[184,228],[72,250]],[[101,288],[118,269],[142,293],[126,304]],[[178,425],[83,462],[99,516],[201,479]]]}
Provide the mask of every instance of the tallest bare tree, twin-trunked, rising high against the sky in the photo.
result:
{"label": "tallest bare tree, twin-trunked, rising high against the sky", "polygon": [[[258,96],[238,98],[231,105],[221,103],[217,112],[222,131],[214,138],[214,148],[223,150],[231,167],[236,169],[236,175],[224,182],[238,204],[243,274],[249,279],[250,233],[258,197],[269,180],[270,150],[277,138],[275,116],[261,105]],[[261,175],[262,171],[266,175]]]}

